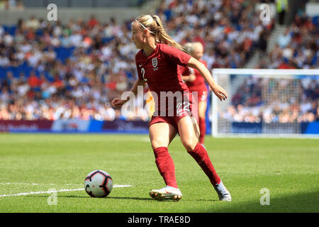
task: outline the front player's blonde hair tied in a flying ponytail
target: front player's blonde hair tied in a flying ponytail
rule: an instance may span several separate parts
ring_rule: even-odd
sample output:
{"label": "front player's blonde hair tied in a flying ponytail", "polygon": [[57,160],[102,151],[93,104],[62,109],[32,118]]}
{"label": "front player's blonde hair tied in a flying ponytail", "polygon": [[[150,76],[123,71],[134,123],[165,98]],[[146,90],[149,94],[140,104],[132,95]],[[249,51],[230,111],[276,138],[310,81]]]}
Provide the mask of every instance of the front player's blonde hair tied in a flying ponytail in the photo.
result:
{"label": "front player's blonde hair tied in a flying ponytail", "polygon": [[147,28],[152,34],[155,35],[157,43],[164,43],[174,48],[186,52],[185,48],[173,40],[165,31],[161,19],[157,15],[142,15],[135,19],[141,26]]}

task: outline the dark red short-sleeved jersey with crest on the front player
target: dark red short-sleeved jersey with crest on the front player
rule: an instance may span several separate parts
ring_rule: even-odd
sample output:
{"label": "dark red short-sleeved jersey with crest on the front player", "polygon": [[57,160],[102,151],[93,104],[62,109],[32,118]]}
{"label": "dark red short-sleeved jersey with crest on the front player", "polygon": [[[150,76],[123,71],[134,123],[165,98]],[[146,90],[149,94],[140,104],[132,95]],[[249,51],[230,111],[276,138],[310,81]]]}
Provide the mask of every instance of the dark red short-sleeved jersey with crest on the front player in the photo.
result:
{"label": "dark red short-sleeved jersey with crest on the front player", "polygon": [[182,95],[189,93],[187,85],[181,79],[178,65],[186,67],[190,59],[191,55],[163,43],[157,43],[155,50],[148,57],[144,55],[143,50],[136,54],[135,62],[139,79],[147,82],[150,92],[157,94],[157,98],[154,97],[155,116],[162,116],[162,110],[166,112],[165,116],[170,116],[167,110],[173,111],[174,116],[177,115],[179,101],[174,100],[173,105],[166,101],[166,105],[161,106],[161,92],[172,92],[173,94],[181,92]]}

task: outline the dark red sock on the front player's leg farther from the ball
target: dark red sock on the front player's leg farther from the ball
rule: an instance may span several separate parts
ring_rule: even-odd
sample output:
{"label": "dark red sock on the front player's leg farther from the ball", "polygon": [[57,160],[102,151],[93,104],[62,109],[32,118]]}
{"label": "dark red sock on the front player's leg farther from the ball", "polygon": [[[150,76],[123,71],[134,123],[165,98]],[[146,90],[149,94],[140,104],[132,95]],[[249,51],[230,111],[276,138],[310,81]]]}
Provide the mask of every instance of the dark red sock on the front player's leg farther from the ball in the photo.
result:
{"label": "dark red sock on the front player's leg farther from the ball", "polygon": [[194,160],[196,160],[203,172],[205,172],[213,186],[220,183],[220,178],[218,177],[217,172],[215,171],[213,164],[208,157],[208,153],[200,143],[197,143],[194,150],[187,152],[191,155],[191,157],[194,157]]}

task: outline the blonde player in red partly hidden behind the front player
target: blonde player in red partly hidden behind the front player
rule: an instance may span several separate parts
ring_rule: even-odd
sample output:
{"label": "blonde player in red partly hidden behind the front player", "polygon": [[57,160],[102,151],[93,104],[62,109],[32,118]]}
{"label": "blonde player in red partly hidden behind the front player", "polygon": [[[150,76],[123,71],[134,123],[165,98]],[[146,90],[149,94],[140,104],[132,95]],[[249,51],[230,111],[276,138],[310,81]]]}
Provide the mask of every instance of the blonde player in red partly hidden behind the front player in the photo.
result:
{"label": "blonde player in red partly hidden behind the front player", "polygon": [[[184,48],[192,57],[199,62],[202,62],[203,65],[207,67],[207,63],[204,60],[201,60],[201,57],[203,57],[203,45],[201,43],[186,43]],[[206,133],[205,114],[208,94],[205,79],[198,70],[189,67],[181,67],[181,75],[184,82],[186,82],[187,87],[189,87],[189,91],[198,92],[199,143],[203,145]]]}

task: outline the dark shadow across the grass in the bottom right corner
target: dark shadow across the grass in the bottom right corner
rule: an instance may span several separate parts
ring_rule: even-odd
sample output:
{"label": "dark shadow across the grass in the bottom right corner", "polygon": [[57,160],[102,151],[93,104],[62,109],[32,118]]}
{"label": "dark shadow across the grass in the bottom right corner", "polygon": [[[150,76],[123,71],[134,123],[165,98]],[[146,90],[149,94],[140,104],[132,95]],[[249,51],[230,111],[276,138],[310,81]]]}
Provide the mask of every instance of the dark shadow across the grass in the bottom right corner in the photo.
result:
{"label": "dark shadow across the grass in the bottom right corner", "polygon": [[[262,195],[260,195],[262,196]],[[236,202],[233,198],[231,202],[223,202],[223,206],[203,209],[203,213],[318,213],[319,212],[319,192],[308,192],[304,194],[291,194],[289,196],[277,197],[279,194],[270,194],[269,205],[262,206],[260,197],[256,201],[245,203]]]}

